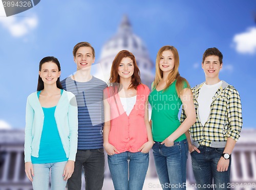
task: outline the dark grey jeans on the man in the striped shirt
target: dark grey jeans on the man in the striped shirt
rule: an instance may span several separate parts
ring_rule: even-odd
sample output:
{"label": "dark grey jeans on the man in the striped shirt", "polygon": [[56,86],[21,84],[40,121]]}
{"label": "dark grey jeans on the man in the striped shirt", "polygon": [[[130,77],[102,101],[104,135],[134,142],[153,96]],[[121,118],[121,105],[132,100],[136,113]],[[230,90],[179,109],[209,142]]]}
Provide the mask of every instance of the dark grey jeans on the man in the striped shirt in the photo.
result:
{"label": "dark grey jeans on the man in the striped shirt", "polygon": [[86,190],[100,190],[104,180],[104,149],[77,150],[75,169],[68,180],[69,190],[81,189],[82,168],[86,180]]}

